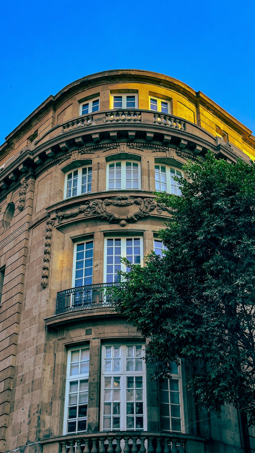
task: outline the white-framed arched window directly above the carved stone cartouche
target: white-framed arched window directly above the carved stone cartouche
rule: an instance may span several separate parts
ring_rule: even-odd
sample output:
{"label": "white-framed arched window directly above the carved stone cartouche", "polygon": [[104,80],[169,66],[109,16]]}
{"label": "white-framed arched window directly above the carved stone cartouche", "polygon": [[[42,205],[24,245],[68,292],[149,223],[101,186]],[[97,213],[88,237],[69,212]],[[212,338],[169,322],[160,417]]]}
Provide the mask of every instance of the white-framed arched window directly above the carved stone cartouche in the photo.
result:
{"label": "white-framed arched window directly above the carved stone cartouche", "polygon": [[106,190],[141,189],[140,162],[119,160],[107,163]]}

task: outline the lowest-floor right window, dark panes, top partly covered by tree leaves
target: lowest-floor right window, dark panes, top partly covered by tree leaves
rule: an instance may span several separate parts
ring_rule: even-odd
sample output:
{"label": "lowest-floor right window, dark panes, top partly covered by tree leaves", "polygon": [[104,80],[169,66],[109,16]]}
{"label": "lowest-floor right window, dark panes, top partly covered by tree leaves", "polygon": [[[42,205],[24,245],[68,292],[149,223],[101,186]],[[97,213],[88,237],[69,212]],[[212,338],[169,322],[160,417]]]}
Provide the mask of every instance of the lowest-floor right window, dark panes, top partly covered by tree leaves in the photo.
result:
{"label": "lowest-floor right window, dark panes, top partly covered by tree leaves", "polygon": [[181,366],[171,363],[171,379],[159,385],[161,430],[184,432]]}

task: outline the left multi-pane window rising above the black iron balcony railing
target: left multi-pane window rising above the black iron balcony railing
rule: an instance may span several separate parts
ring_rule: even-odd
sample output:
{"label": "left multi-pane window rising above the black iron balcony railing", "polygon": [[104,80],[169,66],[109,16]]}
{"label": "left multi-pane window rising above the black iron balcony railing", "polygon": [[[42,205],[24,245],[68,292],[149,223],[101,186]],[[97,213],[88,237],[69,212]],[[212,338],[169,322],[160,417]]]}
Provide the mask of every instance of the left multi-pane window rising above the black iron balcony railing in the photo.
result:
{"label": "left multi-pane window rising above the black iron balcony railing", "polygon": [[92,284],[93,241],[86,241],[74,246],[73,286],[75,288]]}

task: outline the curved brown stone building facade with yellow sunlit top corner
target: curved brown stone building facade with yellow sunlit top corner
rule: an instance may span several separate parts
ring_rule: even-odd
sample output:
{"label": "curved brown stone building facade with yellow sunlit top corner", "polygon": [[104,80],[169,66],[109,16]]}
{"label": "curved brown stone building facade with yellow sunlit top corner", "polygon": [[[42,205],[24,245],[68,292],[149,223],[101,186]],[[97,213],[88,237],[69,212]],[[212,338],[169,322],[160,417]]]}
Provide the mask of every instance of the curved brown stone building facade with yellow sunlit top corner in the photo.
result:
{"label": "curved brown stone building facade with yellow sunlit top corner", "polygon": [[142,263],[170,217],[153,191],[212,149],[255,137],[161,74],[99,72],[49,96],[0,147],[0,452],[241,453],[253,433],[198,409],[186,364],[150,381],[141,338],[103,288]]}

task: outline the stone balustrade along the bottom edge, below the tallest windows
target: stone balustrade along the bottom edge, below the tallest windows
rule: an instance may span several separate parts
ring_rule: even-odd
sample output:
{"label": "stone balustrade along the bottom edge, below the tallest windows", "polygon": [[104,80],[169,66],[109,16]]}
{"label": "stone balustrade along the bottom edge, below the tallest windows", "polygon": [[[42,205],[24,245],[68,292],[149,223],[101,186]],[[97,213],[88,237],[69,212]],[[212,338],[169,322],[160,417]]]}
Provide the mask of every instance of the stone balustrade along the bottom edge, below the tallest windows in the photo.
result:
{"label": "stone balustrade along the bottom edge, below the tallest windows", "polygon": [[[46,443],[59,443],[61,453],[186,453],[188,436],[147,432],[101,432],[95,434],[66,435]],[[199,442],[201,445],[201,442]],[[46,450],[46,449],[45,449]],[[58,448],[57,448],[58,450]],[[52,452],[56,451],[56,447]],[[199,450],[201,451],[201,450]]]}

